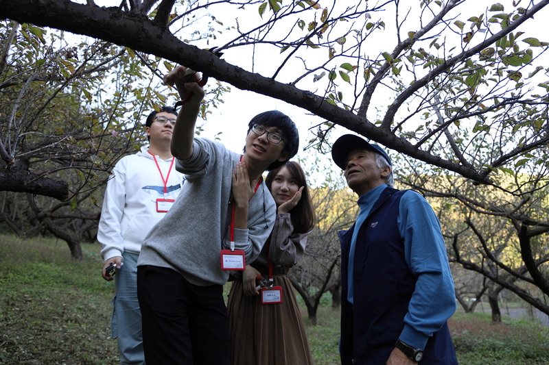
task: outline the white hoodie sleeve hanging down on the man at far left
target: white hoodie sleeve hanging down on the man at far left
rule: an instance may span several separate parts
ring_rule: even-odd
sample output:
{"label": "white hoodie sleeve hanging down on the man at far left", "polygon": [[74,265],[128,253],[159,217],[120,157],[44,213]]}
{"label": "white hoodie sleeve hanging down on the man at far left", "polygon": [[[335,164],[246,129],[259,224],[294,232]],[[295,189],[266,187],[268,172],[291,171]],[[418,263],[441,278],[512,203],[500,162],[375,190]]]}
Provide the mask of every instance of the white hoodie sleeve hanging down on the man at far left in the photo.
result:
{"label": "white hoodie sleeve hanging down on the man at far left", "polygon": [[122,214],[126,204],[126,164],[120,160],[113,168],[113,176],[107,187],[101,207],[101,218],[97,228],[97,241],[101,244],[101,257],[121,256],[124,253],[124,239],[121,235]]}

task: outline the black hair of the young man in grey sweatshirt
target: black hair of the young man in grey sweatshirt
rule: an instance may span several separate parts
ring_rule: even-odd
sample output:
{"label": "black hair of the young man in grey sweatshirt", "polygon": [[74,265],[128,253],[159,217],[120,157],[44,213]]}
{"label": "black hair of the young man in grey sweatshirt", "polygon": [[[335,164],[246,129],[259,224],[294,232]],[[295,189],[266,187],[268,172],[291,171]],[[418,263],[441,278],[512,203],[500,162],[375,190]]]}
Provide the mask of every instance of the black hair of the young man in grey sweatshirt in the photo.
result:
{"label": "black hair of the young man in grey sweatshirt", "polygon": [[[250,123],[248,123],[248,131],[246,134],[250,133],[250,130],[252,130],[252,127],[255,124],[261,125],[262,127],[274,127],[279,129],[282,138],[284,139],[284,149],[282,150],[282,153],[287,154],[286,159],[284,161],[277,160],[272,162],[272,164],[268,166],[267,171],[279,168],[296,155],[297,150],[299,149],[299,133],[295,123],[289,116],[278,110],[270,110],[257,114],[252,118]],[[246,147],[244,147],[244,151],[246,151]]]}

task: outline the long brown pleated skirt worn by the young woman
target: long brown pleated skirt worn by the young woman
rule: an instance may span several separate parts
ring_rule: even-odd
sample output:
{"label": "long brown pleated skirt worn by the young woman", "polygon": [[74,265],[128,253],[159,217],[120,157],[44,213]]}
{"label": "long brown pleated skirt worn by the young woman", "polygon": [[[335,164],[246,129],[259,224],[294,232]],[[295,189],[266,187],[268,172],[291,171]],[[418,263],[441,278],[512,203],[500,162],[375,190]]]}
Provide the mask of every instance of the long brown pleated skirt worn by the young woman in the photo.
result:
{"label": "long brown pleated skirt worn by the young woman", "polygon": [[261,304],[247,297],[242,278],[233,281],[227,307],[232,365],[310,365],[311,351],[294,288],[286,275],[274,275],[282,303]]}

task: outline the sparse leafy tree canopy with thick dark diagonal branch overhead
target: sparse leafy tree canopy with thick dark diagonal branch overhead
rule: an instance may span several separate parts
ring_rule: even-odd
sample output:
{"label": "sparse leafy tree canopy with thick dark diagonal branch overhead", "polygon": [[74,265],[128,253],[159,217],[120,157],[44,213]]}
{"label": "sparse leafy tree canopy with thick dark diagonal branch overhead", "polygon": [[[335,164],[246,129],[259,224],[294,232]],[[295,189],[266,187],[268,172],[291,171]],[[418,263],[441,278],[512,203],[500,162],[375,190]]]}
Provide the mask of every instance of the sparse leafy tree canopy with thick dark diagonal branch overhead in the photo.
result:
{"label": "sparse leafy tree canopy with thick dark diagonal branch overhead", "polygon": [[[544,16],[537,14],[548,3],[507,1],[476,10],[472,0],[196,0],[183,12],[174,0],[124,0],[111,8],[93,0],[0,0],[0,14],[157,55],[297,105],[325,121],[315,142],[341,125],[412,158],[495,184],[491,175],[510,165],[535,169],[546,163],[549,83],[536,62],[548,43],[522,27],[542,24]],[[234,32],[230,42],[200,48],[178,38],[181,22],[204,8],[215,15],[229,6],[248,16],[222,31]],[[379,39],[381,49],[370,47]],[[280,61],[255,73],[259,65],[238,56],[249,47],[255,47],[252,60],[261,53]],[[480,153],[486,147],[489,153]]]}

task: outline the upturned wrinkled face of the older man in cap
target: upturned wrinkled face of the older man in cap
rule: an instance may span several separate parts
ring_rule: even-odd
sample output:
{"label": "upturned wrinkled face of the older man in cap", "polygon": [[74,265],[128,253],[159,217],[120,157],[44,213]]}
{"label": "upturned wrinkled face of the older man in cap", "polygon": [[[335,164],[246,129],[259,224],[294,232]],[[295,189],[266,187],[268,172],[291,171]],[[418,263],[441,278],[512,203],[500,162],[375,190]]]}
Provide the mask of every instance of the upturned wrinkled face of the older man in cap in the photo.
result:
{"label": "upturned wrinkled face of the older man in cap", "polygon": [[379,185],[385,184],[390,167],[379,168],[375,162],[375,152],[369,149],[353,149],[345,162],[347,185],[359,196]]}

